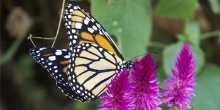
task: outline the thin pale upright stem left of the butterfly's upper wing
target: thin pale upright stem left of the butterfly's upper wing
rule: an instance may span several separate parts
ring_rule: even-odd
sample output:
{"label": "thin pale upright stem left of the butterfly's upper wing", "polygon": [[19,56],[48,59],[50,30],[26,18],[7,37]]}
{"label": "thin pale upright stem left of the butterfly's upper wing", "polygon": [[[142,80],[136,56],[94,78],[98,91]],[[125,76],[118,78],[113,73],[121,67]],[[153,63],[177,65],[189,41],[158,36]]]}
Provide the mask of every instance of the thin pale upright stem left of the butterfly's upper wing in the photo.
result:
{"label": "thin pale upright stem left of the butterfly's upper wing", "polygon": [[66,0],[63,0],[61,12],[60,12],[60,17],[59,17],[59,24],[58,24],[58,26],[57,26],[57,32],[56,32],[56,35],[55,35],[55,37],[54,37],[54,41],[53,41],[53,43],[52,43],[52,45],[51,45],[51,48],[54,47],[54,44],[55,44],[55,42],[56,42],[56,40],[57,40],[57,37],[58,37],[58,35],[59,35],[59,32],[60,32],[60,26],[61,26],[61,22],[62,22],[62,19],[63,19],[63,12],[64,12],[65,2],[66,2]]}

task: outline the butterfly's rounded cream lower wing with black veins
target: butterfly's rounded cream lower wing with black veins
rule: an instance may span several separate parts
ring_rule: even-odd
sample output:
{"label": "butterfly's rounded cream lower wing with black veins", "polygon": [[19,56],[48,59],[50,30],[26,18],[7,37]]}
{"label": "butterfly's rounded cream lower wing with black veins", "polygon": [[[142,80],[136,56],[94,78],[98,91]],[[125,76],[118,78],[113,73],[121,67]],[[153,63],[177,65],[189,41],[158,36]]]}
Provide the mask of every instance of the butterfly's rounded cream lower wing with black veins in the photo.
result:
{"label": "butterfly's rounded cream lower wing with black veins", "polygon": [[69,83],[81,101],[96,99],[111,79],[124,68],[122,59],[94,43],[76,46],[71,54]]}

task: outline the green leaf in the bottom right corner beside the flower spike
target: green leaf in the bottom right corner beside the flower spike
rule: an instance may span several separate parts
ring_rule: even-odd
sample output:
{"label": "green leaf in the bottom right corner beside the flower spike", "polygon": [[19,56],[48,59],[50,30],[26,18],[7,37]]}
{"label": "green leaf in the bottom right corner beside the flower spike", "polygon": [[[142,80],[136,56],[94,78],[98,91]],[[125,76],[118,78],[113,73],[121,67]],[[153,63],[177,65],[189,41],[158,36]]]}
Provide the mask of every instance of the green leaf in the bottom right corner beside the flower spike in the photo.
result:
{"label": "green leaf in the bottom right corner beside the flower spike", "polygon": [[193,110],[218,110],[220,105],[220,67],[207,65],[197,77]]}

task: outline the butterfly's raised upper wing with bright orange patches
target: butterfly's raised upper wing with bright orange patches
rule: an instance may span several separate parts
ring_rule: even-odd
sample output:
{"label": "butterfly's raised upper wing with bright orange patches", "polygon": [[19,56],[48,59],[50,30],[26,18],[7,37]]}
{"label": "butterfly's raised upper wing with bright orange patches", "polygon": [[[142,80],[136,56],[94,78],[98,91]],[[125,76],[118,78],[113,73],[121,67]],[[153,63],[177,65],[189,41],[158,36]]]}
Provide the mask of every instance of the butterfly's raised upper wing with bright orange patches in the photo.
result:
{"label": "butterfly's raised upper wing with bright orange patches", "polygon": [[74,2],[69,1],[64,12],[70,50],[78,44],[96,43],[123,59],[119,48],[105,29],[91,15],[74,4]]}

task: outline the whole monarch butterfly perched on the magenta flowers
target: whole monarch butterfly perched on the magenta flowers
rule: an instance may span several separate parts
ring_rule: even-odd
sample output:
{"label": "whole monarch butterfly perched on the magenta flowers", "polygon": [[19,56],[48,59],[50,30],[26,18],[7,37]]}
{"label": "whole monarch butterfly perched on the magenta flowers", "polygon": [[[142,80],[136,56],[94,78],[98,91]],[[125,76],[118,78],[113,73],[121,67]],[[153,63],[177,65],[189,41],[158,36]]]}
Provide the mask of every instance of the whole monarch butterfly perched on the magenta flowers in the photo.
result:
{"label": "whole monarch butterfly perched on the magenta flowers", "polygon": [[109,34],[75,2],[68,1],[64,23],[69,47],[33,48],[30,55],[71,100],[94,100],[122,69],[130,68]]}

